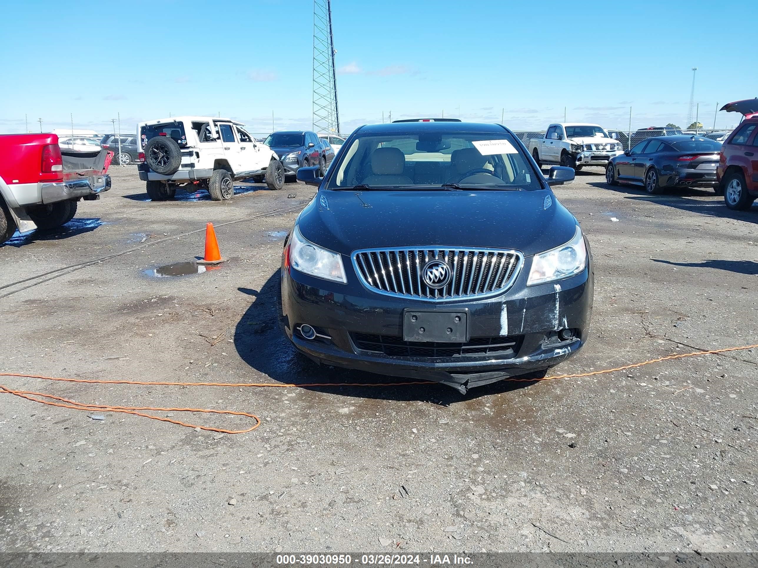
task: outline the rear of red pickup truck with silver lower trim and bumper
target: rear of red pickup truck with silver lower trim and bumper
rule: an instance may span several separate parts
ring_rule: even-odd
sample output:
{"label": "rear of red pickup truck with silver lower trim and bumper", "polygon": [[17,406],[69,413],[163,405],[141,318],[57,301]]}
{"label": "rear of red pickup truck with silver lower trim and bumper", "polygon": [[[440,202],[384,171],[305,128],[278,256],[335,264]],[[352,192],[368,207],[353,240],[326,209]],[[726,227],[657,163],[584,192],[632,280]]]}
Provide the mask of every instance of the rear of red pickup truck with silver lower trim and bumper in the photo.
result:
{"label": "rear of red pickup truck with silver lower trim and bumper", "polygon": [[16,229],[55,229],[77,214],[80,199],[111,189],[113,153],[74,152],[55,134],[0,135],[0,245]]}

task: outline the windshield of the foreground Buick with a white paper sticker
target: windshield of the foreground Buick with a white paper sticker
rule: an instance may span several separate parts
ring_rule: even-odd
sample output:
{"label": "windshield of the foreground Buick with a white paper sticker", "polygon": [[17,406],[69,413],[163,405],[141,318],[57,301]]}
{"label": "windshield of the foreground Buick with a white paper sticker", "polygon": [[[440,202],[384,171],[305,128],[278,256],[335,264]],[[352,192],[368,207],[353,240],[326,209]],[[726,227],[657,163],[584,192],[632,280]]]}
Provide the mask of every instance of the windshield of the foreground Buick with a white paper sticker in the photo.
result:
{"label": "windshield of the foreground Buick with a white paper sticker", "polygon": [[509,133],[358,135],[340,150],[328,189],[542,189]]}

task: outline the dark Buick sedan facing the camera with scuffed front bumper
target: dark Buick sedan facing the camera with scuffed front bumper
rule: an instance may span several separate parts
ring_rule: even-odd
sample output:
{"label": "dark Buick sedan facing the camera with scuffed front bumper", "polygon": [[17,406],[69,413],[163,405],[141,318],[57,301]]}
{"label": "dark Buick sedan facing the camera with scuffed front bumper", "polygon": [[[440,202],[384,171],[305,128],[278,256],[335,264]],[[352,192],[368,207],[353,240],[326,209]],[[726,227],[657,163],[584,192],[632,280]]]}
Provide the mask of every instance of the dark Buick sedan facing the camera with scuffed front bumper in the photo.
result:
{"label": "dark Buick sedan facing the camera with scuffed front bumper", "polygon": [[522,142],[496,124],[362,126],[283,249],[280,328],[314,360],[465,393],[587,341],[590,248]]}

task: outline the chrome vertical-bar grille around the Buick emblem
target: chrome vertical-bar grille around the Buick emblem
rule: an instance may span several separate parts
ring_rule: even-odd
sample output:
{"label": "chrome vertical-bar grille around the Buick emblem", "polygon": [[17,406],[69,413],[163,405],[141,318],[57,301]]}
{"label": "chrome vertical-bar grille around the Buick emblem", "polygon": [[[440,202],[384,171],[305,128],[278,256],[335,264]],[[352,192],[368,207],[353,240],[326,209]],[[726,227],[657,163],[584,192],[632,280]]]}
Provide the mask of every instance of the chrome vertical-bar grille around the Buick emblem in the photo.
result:
{"label": "chrome vertical-bar grille around the Buick emblem", "polygon": [[[450,278],[435,289],[424,282],[431,261],[446,264]],[[352,253],[362,284],[380,294],[421,300],[494,295],[508,289],[524,263],[519,251],[481,248],[371,248]]]}

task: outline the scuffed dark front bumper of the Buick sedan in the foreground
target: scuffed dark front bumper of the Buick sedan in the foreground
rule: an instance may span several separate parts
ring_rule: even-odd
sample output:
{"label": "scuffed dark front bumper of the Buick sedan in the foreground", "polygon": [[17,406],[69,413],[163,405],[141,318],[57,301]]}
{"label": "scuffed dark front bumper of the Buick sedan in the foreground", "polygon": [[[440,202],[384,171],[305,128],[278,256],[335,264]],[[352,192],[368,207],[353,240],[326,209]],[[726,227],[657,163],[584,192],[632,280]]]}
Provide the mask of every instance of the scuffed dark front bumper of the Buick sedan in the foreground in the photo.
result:
{"label": "scuffed dark front bumper of the Buick sedan in the foreground", "polygon": [[[346,263],[347,284],[281,270],[280,327],[299,351],[319,362],[441,382],[465,393],[473,386],[553,367],[587,341],[594,295],[591,257],[587,269],[577,276],[527,288],[531,267],[528,259],[512,288],[503,295],[449,302],[391,298],[370,292],[348,266]],[[500,354],[453,357],[386,354],[356,345],[356,334],[402,339],[406,309],[467,311],[471,339],[508,337],[516,345]],[[319,335],[305,339],[298,329],[303,323],[314,326]],[[558,336],[561,329],[572,330],[564,341]]]}

